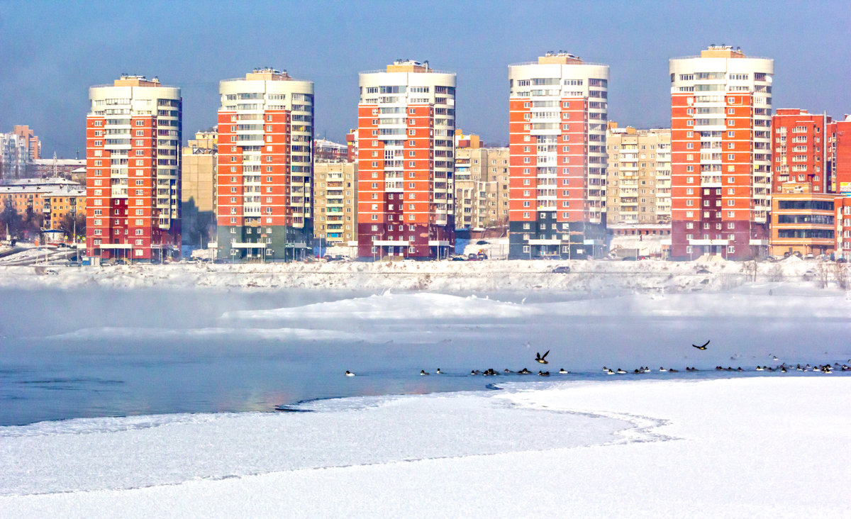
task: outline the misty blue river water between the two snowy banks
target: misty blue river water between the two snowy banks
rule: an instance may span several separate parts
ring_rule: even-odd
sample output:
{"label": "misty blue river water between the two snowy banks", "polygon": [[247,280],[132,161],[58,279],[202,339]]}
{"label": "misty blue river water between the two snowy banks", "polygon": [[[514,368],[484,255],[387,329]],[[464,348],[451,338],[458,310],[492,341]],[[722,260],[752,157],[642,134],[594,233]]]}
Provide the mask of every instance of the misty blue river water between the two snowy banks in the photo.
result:
{"label": "misty blue river water between the two snowy banks", "polygon": [[[805,300],[785,301],[802,305],[791,316],[763,311],[753,317],[747,303],[723,294],[676,303],[662,298],[652,304],[667,308],[666,315],[648,317],[629,297],[583,297],[3,290],[0,425],[271,411],[336,396],[599,378],[606,376],[603,366],[709,370],[646,377],[757,376],[757,365],[844,362],[849,356],[841,339],[851,336],[848,320],[815,318]],[[683,300],[692,307],[683,307]],[[727,304],[742,305],[742,311],[702,311]],[[691,347],[706,339],[707,351]],[[550,364],[534,362],[536,352],[547,350]],[[715,372],[716,365],[747,373]],[[437,375],[437,368],[446,374]],[[471,369],[486,368],[543,368],[552,376],[469,376]],[[559,376],[559,368],[572,374]],[[431,375],[420,376],[420,369]],[[357,376],[343,376],[346,370]]]}

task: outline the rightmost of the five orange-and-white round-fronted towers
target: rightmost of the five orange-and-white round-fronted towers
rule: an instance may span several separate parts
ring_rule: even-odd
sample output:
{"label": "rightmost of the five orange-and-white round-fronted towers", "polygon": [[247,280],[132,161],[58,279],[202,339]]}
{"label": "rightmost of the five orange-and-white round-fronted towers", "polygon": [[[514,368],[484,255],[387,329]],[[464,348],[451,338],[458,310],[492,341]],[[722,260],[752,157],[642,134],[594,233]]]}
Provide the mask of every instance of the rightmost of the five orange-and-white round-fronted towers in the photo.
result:
{"label": "rightmost of the five orange-and-white round-fronted towers", "polygon": [[774,60],[713,45],[669,70],[671,259],[766,254]]}

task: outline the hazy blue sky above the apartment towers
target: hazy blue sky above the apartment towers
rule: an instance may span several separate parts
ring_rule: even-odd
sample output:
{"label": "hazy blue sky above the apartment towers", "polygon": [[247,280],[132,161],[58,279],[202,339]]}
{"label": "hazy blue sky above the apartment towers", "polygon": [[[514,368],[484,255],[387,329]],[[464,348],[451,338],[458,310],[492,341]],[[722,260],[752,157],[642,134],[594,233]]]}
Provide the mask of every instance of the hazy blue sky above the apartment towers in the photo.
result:
{"label": "hazy blue sky above the apartment towers", "polygon": [[458,74],[457,124],[507,142],[510,63],[567,50],[611,67],[609,118],[670,125],[668,59],[710,43],[774,58],[774,108],[851,113],[851,2],[39,2],[0,0],[0,132],[85,155],[90,85],[182,88],[184,139],[215,122],[219,80],[256,66],[316,87],[317,137],[357,123],[357,72],[397,58]]}

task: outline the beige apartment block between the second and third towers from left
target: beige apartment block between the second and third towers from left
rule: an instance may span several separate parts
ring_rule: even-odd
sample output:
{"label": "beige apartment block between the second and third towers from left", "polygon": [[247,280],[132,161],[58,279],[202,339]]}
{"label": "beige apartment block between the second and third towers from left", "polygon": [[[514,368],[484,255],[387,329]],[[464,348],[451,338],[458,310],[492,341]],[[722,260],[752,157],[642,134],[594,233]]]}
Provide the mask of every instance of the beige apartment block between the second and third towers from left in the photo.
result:
{"label": "beige apartment block between the second and third towers from left", "polygon": [[357,247],[357,163],[315,163],[313,237],[323,247]]}

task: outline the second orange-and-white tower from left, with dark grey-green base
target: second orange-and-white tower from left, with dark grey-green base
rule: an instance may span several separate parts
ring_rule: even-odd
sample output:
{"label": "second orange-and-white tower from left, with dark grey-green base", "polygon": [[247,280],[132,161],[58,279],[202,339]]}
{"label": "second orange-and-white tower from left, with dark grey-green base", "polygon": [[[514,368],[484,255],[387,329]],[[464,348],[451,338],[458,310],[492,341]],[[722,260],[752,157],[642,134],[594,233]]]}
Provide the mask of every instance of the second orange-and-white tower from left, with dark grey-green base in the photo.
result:
{"label": "second orange-and-white tower from left, with dark grey-green base", "polygon": [[313,83],[264,68],[219,92],[219,257],[303,258],[313,234]]}

